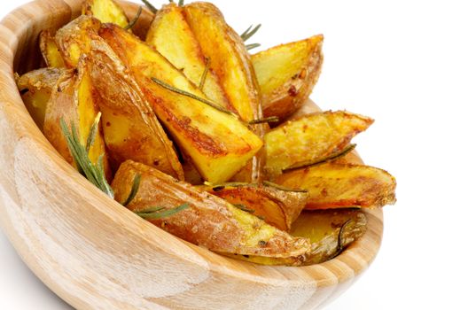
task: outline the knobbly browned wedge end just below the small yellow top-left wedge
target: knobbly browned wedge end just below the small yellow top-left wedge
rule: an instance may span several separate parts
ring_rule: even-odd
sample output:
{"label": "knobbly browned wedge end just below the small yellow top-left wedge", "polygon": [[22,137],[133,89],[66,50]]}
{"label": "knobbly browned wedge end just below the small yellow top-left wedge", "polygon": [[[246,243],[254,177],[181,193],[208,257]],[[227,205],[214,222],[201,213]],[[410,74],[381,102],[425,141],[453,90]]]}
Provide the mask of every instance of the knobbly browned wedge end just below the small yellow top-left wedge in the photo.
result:
{"label": "knobbly browned wedge end just below the small yellow top-left wedge", "polygon": [[97,34],[100,26],[98,19],[82,15],[58,29],[55,42],[66,66],[76,67],[82,54],[90,52],[90,36]]}

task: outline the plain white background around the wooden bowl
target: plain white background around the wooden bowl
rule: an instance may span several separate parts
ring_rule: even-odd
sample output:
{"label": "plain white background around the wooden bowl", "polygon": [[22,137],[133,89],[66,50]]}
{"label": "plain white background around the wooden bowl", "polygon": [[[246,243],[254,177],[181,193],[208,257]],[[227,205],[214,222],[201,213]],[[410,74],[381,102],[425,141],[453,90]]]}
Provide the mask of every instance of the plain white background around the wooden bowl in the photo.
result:
{"label": "plain white background around the wooden bowl", "polygon": [[[326,309],[468,309],[466,2],[213,1],[238,31],[261,22],[262,48],[324,34],[312,98],[375,118],[358,150],[397,177],[377,260]],[[0,15],[26,2],[2,1]],[[0,309],[68,308],[1,232],[0,261]]]}

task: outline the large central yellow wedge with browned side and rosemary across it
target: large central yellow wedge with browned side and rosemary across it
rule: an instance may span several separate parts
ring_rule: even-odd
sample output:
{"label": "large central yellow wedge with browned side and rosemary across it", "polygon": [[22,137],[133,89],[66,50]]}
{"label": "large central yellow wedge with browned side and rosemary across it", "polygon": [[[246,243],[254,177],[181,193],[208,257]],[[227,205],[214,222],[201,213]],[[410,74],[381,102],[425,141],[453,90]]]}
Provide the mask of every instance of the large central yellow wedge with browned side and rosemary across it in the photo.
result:
{"label": "large central yellow wedge with browned side and rosemary across it", "polygon": [[261,149],[261,139],[236,117],[152,81],[204,96],[149,45],[112,24],[103,25],[99,35],[135,76],[153,111],[205,180],[228,181]]}

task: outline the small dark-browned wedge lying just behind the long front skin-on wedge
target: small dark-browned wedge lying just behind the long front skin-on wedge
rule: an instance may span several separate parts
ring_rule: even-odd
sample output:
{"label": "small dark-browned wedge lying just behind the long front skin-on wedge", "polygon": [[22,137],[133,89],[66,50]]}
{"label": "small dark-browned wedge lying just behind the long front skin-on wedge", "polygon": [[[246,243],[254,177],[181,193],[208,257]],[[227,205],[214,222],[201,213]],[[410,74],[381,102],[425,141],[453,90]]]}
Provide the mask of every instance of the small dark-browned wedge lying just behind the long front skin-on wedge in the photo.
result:
{"label": "small dark-browned wedge lying just behind the long front skin-on wedge", "polygon": [[222,186],[202,186],[214,196],[264,219],[277,229],[289,231],[308,200],[308,194],[279,190],[258,184],[227,183]]}

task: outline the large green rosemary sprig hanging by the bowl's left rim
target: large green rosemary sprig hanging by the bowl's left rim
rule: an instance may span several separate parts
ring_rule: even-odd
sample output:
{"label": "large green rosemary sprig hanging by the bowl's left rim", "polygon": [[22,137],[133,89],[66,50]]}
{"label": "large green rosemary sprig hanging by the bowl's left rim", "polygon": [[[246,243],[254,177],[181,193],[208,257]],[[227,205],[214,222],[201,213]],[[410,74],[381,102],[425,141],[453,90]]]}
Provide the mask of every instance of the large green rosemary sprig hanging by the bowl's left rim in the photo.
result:
{"label": "large green rosemary sprig hanging by the bowl's left rim", "polygon": [[105,180],[103,165],[104,154],[99,157],[98,163],[93,164],[90,160],[90,156],[88,155],[88,151],[86,151],[86,148],[82,145],[82,143],[80,143],[80,138],[78,136],[76,127],[74,126],[74,122],[72,121],[70,124],[70,127],[72,128],[71,133],[70,130],[68,130],[66,122],[63,118],[60,119],[60,127],[62,129],[63,135],[65,136],[68,150],[72,154],[74,162],[76,163],[80,173],[83,174],[96,187],[98,187],[99,190],[102,190],[107,196],[113,198],[113,189],[109,183],[107,183],[107,180]]}

